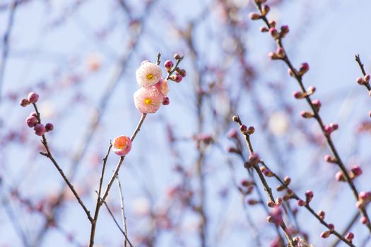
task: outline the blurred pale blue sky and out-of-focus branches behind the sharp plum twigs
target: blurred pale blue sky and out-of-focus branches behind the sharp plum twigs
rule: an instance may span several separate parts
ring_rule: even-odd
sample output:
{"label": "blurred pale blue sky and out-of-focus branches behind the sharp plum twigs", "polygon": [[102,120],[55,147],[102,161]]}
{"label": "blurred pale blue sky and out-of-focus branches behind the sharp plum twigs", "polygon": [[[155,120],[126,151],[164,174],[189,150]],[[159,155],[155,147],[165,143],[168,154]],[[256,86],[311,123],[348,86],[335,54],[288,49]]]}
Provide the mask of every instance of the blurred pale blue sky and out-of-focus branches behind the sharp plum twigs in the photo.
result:
{"label": "blurred pale blue sky and out-of-focus branches behind the sharp plum twigs", "polygon": [[[264,206],[245,203],[259,200],[257,191],[244,197],[236,188],[251,178],[243,161],[228,153],[234,143],[227,133],[237,129],[233,114],[255,127],[254,150],[277,174],[291,177],[298,195],[314,191],[312,207],[324,210],[327,222],[343,231],[353,219],[355,200],[334,179],[338,168],[323,161],[329,150],[317,123],[299,115],[308,107],[292,97],[298,85],[283,63],[269,60],[276,48],[259,32],[263,23],[248,18],[255,11],[252,1],[12,4],[0,1],[0,246],[86,246],[90,234],[83,210],[39,155],[40,138],[24,121],[33,110],[20,107],[20,98],[39,93],[42,120],[54,123],[49,146],[93,211],[110,140],[131,135],[141,116],[132,97],[136,68],[145,59],[155,61],[158,52],[161,61],[184,55],[187,77],[170,83],[170,105],[147,116],[119,174],[134,246],[201,246],[199,205],[206,215],[206,246],[269,246],[275,239]],[[371,71],[371,1],[268,4],[269,17],[290,27],[284,44],[295,66],[310,64],[304,82],[317,88],[324,121],[340,126],[334,140],[341,157],[348,167],[363,168],[356,185],[369,191],[371,104],[367,90],[355,83],[361,73],[354,55]],[[205,143],[205,136],[213,142]],[[110,155],[106,182],[118,159]],[[276,181],[268,181],[281,195]],[[120,219],[117,186],[107,203]],[[305,209],[285,220],[314,246],[336,241],[321,239],[324,227]],[[356,246],[371,244],[358,221],[352,231]],[[102,208],[96,245],[123,241]]]}

